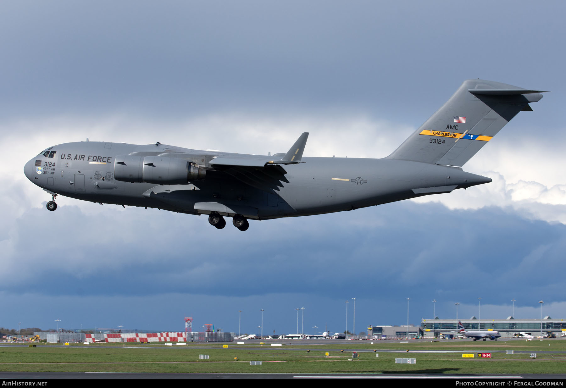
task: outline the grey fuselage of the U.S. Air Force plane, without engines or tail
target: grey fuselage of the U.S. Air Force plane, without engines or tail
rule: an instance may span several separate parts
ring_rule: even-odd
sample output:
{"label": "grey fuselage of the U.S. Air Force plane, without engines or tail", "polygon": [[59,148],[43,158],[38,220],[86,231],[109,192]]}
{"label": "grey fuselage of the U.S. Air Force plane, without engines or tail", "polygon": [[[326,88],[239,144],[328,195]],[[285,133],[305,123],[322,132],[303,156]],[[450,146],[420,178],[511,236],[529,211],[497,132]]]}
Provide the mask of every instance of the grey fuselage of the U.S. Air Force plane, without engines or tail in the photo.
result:
{"label": "grey fuselage of the U.S. Air Force plane, without engines or tail", "polygon": [[[130,183],[116,179],[118,155],[155,155],[161,151],[182,153],[195,160],[200,158],[203,165],[220,155],[241,156],[164,144],[83,141],[50,147],[32,158],[24,170],[37,186],[80,200],[190,214],[238,212],[254,219],[353,210],[491,182],[489,178],[466,173],[458,167],[429,163],[386,158],[306,157],[302,163],[285,166],[284,176],[288,182],[276,189],[256,188],[225,174],[222,169],[210,167],[205,167],[204,179],[186,184]],[[235,210],[230,212],[230,209]]]}

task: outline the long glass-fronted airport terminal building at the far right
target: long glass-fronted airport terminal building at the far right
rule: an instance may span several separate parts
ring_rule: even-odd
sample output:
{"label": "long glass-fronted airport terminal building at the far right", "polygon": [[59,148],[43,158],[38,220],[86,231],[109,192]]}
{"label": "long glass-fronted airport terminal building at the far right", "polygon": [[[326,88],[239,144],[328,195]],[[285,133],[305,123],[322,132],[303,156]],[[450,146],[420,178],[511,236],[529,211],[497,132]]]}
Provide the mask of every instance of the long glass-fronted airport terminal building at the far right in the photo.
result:
{"label": "long glass-fronted airport terminal building at the far right", "polygon": [[[552,319],[550,316],[540,319],[482,319],[471,317],[469,320],[460,320],[466,330],[494,330],[499,331],[501,337],[513,337],[515,333],[532,333],[534,337],[546,334],[554,334],[560,337],[566,333],[566,321],[563,319]],[[455,319],[442,320],[438,317],[429,320],[423,319],[421,327],[425,337],[439,337],[441,334],[449,334],[447,331],[456,331],[458,321]]]}

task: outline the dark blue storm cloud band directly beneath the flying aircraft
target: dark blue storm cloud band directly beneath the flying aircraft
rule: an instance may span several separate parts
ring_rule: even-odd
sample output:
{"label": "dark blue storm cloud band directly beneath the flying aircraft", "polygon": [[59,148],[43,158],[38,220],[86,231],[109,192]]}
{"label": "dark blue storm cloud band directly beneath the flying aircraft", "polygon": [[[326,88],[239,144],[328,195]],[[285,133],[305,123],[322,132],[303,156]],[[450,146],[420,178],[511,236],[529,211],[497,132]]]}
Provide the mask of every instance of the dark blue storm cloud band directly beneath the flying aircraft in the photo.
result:
{"label": "dark blue storm cloud band directly beneath the flying aircraft", "polygon": [[[17,253],[7,260],[37,272],[6,277],[5,290],[239,297],[325,290],[326,296],[339,298],[355,286],[362,294],[387,298],[401,290],[432,298],[442,290],[464,296],[479,288],[491,290],[495,303],[509,290],[524,296],[517,282],[545,292],[562,282],[558,273],[537,275],[537,269],[559,265],[566,226],[529,221],[498,208],[451,211],[407,202],[271,221],[268,229],[254,233],[228,229],[215,235],[199,232],[200,218],[181,214],[62,209],[56,212],[59,217],[33,209],[19,220],[12,241]],[[61,221],[63,213],[76,225]],[[54,232],[41,232],[42,225]],[[36,231],[41,249],[29,245]],[[52,282],[57,275],[65,281]]]}

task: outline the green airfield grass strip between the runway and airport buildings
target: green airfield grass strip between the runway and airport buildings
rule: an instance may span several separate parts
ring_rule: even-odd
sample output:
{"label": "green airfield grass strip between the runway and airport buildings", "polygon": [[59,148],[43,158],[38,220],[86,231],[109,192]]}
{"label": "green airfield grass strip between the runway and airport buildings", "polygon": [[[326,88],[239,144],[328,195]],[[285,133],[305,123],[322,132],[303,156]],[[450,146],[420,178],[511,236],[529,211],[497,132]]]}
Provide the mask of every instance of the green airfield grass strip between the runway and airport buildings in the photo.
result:
{"label": "green airfield grass strip between the runway and airport buildings", "polygon": [[[381,350],[398,350],[385,352]],[[310,352],[307,352],[310,350]],[[344,352],[340,352],[344,350]],[[352,351],[358,360],[349,361]],[[374,352],[376,350],[376,352]],[[410,352],[406,352],[409,350]],[[508,355],[505,350],[526,351]],[[436,351],[420,353],[417,351]],[[439,352],[443,351],[443,352]],[[541,353],[551,351],[558,353]],[[325,356],[329,352],[329,356]],[[492,352],[492,359],[462,358],[462,352]],[[379,357],[376,357],[376,353]],[[537,353],[537,359],[530,359]],[[199,360],[199,354],[209,355]],[[417,364],[395,364],[396,357]],[[235,360],[237,359],[237,360]],[[249,361],[263,361],[250,365]],[[0,346],[0,370],[10,372],[177,372],[177,373],[566,373],[566,340],[410,343],[345,342],[281,347],[191,343],[91,344],[89,346]]]}

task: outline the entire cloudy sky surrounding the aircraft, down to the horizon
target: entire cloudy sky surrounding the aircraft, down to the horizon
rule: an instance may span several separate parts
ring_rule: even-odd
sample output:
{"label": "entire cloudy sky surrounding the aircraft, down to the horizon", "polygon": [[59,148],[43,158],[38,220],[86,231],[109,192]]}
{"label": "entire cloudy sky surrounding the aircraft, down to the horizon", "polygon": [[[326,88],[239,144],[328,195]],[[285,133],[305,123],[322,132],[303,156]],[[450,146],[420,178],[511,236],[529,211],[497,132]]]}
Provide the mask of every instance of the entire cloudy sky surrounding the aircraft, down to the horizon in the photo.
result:
{"label": "entire cloudy sky surrounding the aircraft, down to the horizon", "polygon": [[[242,332],[566,317],[564,2],[3,1],[0,326]],[[58,197],[23,166],[85,140],[384,157],[481,78],[550,90],[464,169],[493,182],[250,222]],[[296,252],[300,252],[299,255]],[[301,330],[299,316],[299,331]],[[318,328],[314,328],[318,326]]]}

